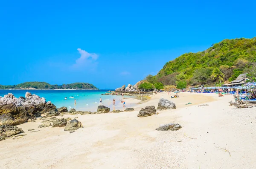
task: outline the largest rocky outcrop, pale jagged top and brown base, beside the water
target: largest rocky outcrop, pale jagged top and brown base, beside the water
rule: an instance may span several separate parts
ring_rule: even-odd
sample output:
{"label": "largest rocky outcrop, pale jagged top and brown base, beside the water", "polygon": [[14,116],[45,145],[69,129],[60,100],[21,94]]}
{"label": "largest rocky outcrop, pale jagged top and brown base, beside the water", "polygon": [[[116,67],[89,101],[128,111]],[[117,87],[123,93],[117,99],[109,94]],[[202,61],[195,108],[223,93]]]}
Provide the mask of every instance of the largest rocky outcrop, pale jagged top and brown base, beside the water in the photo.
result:
{"label": "largest rocky outcrop, pale jagged top and brown base, beside the water", "polygon": [[34,120],[43,113],[55,111],[50,101],[46,102],[44,97],[32,95],[26,92],[25,97],[15,97],[11,93],[0,97],[0,125],[18,125],[25,123],[28,119]]}

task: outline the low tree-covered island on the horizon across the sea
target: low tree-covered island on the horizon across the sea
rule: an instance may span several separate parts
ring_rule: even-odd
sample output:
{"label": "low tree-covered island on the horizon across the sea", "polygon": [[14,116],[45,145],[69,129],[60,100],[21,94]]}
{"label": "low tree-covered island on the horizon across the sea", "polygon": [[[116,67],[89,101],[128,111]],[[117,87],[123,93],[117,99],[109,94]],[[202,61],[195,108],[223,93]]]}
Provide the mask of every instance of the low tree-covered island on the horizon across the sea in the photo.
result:
{"label": "low tree-covered island on the horizon across the sea", "polygon": [[0,85],[0,89],[78,89],[78,90],[99,90],[90,83],[71,83],[62,85],[51,85],[46,82],[25,82],[17,85]]}

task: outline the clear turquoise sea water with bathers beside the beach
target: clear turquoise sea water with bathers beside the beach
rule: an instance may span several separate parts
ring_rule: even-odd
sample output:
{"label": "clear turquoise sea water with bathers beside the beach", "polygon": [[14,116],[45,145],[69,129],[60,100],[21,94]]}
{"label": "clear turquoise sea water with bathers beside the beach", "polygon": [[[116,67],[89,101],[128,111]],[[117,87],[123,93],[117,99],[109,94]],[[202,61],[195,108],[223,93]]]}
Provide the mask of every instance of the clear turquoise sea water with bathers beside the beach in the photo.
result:
{"label": "clear turquoise sea water with bathers beside the beach", "polygon": [[[123,109],[121,100],[122,96],[101,95],[107,92],[107,90],[0,90],[0,96],[4,96],[8,93],[12,93],[15,97],[23,96],[25,93],[30,92],[32,94],[44,97],[47,101],[51,101],[55,106],[65,106],[68,109],[74,108],[81,111],[96,112],[99,105],[108,106],[113,109]],[[70,98],[70,97],[74,98]],[[64,99],[67,97],[67,100]],[[99,99],[102,97],[102,103],[99,103]],[[125,96],[124,98],[128,98]],[[113,98],[116,100],[116,105],[113,106]],[[74,101],[76,99],[76,105]],[[125,104],[126,107],[133,106]]]}

